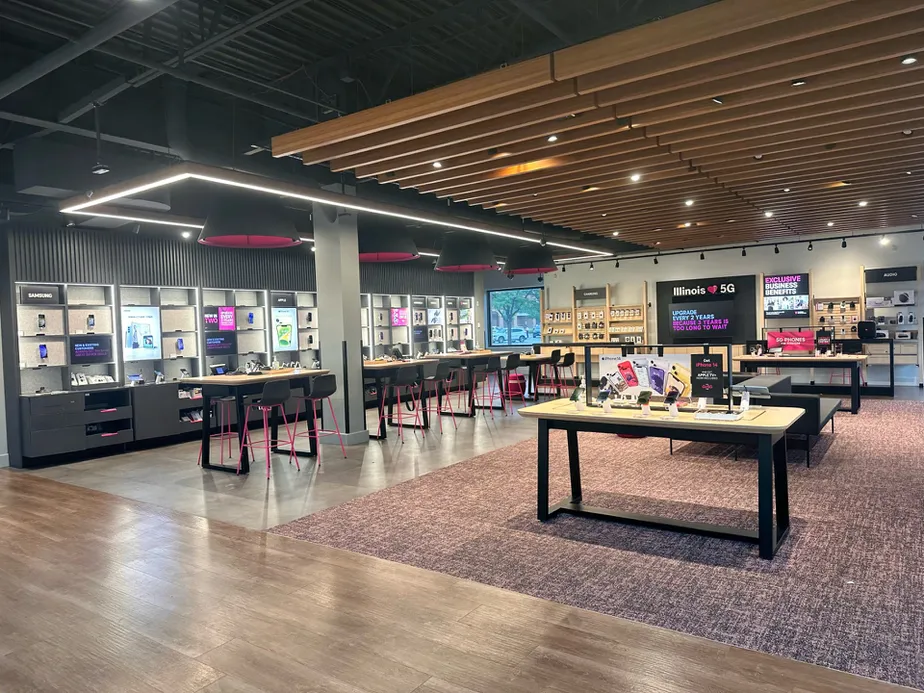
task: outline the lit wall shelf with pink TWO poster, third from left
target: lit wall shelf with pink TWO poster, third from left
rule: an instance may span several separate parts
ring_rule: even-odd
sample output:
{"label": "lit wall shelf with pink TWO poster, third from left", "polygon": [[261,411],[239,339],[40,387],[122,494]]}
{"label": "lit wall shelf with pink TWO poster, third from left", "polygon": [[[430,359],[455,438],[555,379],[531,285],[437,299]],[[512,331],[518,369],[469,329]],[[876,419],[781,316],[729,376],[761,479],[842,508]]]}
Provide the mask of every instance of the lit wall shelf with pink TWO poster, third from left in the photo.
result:
{"label": "lit wall shelf with pink TWO poster, third from left", "polygon": [[266,291],[203,289],[202,321],[206,366],[237,368],[248,361],[269,365],[270,323]]}

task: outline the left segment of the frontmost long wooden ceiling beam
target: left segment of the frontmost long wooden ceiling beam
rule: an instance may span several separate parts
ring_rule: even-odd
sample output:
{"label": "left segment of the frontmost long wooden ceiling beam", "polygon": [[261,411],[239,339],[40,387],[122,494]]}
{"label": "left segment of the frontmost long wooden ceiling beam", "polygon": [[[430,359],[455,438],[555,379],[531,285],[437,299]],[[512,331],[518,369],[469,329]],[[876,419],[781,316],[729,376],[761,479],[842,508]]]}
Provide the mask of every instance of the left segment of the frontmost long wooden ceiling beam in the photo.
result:
{"label": "left segment of the frontmost long wooden ceiling beam", "polygon": [[273,156],[299,154],[477,104],[502,100],[554,81],[551,55],[525,60],[500,70],[279,135],[273,138]]}

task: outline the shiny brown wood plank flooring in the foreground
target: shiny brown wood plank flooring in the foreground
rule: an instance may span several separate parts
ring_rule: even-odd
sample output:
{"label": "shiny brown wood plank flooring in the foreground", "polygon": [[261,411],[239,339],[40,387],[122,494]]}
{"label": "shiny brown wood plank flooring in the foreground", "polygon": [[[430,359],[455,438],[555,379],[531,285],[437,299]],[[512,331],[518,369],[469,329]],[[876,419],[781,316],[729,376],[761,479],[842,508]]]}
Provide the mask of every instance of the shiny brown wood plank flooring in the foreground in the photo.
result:
{"label": "shiny brown wood plank flooring in the foreground", "polygon": [[0,471],[3,693],[899,690]]}

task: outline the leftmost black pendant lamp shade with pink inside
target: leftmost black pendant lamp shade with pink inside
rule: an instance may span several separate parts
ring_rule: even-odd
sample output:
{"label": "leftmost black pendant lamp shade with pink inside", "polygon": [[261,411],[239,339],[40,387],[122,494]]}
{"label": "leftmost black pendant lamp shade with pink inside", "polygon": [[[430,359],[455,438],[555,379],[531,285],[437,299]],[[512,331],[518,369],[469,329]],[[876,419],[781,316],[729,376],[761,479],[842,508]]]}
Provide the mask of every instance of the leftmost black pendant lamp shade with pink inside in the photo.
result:
{"label": "leftmost black pendant lamp shade with pink inside", "polygon": [[223,202],[199,233],[199,243],[219,248],[291,248],[301,242],[281,207],[250,200]]}

